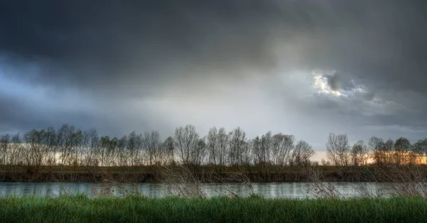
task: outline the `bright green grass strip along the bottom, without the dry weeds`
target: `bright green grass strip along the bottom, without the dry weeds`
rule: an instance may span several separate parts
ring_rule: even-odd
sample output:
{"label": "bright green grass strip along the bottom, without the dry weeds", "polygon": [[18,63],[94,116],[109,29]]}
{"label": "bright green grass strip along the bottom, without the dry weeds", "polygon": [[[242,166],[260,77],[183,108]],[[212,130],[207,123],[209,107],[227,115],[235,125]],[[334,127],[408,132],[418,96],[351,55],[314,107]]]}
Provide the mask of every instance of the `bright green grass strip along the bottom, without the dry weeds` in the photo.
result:
{"label": "bright green grass strip along the bottom, without the dry weeds", "polygon": [[250,197],[0,198],[1,222],[425,222],[421,197],[285,200]]}

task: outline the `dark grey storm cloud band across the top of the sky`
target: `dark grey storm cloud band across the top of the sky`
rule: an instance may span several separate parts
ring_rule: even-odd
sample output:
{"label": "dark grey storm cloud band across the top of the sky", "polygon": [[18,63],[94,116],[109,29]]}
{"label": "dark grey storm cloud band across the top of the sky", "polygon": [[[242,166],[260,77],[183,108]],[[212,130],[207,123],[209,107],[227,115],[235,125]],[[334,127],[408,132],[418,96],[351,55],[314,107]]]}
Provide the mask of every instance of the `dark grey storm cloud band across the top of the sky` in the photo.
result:
{"label": "dark grey storm cloud band across the top of the sky", "polygon": [[38,63],[41,82],[140,92],[132,85],[206,70],[266,72],[280,62],[270,43],[302,37],[302,65],[423,89],[416,77],[427,36],[423,4],[415,3],[9,1],[1,5],[0,49],[9,63]]}

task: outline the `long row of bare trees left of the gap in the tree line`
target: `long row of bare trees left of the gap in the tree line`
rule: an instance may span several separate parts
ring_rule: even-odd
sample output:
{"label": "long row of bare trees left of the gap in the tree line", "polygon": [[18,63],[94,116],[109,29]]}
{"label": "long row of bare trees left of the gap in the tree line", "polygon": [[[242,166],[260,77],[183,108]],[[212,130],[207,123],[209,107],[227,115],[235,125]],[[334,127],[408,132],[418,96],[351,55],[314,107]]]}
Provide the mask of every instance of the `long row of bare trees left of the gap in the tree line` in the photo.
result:
{"label": "long row of bare trees left of the gap in the tree line", "polygon": [[33,129],[25,134],[0,136],[0,165],[140,166],[140,165],[310,165],[312,146],[294,136],[272,134],[248,138],[240,127],[213,127],[200,136],[193,125],[176,128],[162,140],[157,131],[122,138],[100,136],[63,124],[60,129]]}

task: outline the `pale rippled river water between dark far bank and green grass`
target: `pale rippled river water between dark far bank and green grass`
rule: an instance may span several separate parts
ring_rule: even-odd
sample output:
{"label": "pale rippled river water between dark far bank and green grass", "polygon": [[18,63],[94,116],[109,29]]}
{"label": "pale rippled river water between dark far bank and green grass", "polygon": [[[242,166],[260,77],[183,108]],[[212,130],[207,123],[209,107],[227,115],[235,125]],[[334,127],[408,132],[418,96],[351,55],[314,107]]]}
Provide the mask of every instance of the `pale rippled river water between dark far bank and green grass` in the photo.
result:
{"label": "pale rippled river water between dark far bank and green grass", "polygon": [[[331,183],[345,197],[358,196],[361,193],[361,183]],[[76,195],[85,193],[95,196],[102,188],[109,187],[105,183],[0,183],[0,196],[40,195],[56,197],[58,195]],[[384,190],[385,185],[379,183],[364,183],[364,188],[371,192]],[[117,196],[137,190],[147,197],[164,197],[167,195],[167,185],[162,183],[122,183],[110,187]],[[263,197],[313,197],[309,192],[310,183],[253,183],[253,192]],[[240,197],[251,194],[251,188],[238,184],[206,183],[202,185],[202,191],[209,197],[216,195],[228,195],[233,191]]]}

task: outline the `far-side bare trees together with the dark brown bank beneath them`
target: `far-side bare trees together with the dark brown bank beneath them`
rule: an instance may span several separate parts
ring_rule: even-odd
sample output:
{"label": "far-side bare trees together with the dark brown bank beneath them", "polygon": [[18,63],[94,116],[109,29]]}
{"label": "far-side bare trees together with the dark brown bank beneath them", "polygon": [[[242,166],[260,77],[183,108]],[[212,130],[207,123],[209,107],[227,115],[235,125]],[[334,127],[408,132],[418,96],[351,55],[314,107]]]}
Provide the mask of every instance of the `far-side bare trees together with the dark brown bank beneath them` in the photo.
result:
{"label": "far-side bare trees together with the dark brown bank beneath them", "polygon": [[64,124],[0,136],[0,180],[154,182],[164,178],[159,170],[185,166],[209,182],[214,178],[206,173],[219,179],[243,173],[253,182],[307,181],[307,168],[324,180],[376,182],[386,180],[378,166],[425,165],[427,139],[411,144],[403,137],[372,137],[350,145],[347,135],[330,134],[325,148],[327,158],[317,162],[309,143],[281,133],[248,138],[241,128],[213,127],[201,137],[187,125],[164,140],[157,131],[111,138]]}

